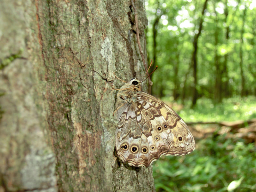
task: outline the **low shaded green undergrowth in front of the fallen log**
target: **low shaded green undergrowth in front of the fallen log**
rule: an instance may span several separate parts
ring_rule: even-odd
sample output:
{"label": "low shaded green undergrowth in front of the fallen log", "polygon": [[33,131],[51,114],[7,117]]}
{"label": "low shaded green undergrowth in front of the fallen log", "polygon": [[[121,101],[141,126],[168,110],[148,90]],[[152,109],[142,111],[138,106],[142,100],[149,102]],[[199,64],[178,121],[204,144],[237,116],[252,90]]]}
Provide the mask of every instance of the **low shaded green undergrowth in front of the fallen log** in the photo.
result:
{"label": "low shaded green undergrowth in front of the fallen log", "polygon": [[256,190],[256,148],[243,140],[222,136],[196,141],[186,156],[164,156],[153,166],[156,191],[227,191],[244,178],[235,191]]}

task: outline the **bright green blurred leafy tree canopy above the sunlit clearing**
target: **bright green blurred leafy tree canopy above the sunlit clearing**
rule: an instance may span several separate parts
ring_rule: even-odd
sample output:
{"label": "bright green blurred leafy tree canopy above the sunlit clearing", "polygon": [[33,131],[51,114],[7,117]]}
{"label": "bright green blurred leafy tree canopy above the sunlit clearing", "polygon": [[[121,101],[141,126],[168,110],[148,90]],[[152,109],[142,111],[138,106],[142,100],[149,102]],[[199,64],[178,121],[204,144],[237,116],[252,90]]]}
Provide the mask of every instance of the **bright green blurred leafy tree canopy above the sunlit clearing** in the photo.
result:
{"label": "bright green blurred leafy tree canopy above the sunlit clearing", "polygon": [[203,19],[197,42],[198,96],[220,102],[216,95],[221,98],[241,95],[242,88],[243,95],[255,95],[255,3],[252,0],[208,1],[202,15],[204,2],[146,0],[148,58],[154,58],[155,50],[153,62],[158,65],[152,77],[152,93],[159,97],[173,96],[175,100],[191,99],[193,40]]}

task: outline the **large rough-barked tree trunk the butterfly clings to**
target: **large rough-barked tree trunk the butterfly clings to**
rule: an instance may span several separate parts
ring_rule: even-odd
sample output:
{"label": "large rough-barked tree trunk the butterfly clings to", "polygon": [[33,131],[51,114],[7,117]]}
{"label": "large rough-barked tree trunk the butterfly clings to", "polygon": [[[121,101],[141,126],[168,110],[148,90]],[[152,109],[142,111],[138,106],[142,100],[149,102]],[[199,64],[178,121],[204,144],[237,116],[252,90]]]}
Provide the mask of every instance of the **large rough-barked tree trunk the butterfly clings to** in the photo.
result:
{"label": "large rough-barked tree trunk the butterfly clings to", "polygon": [[[145,50],[144,2],[135,5]],[[114,72],[145,73],[131,2],[0,7],[0,191],[154,191],[151,168],[114,155]]]}

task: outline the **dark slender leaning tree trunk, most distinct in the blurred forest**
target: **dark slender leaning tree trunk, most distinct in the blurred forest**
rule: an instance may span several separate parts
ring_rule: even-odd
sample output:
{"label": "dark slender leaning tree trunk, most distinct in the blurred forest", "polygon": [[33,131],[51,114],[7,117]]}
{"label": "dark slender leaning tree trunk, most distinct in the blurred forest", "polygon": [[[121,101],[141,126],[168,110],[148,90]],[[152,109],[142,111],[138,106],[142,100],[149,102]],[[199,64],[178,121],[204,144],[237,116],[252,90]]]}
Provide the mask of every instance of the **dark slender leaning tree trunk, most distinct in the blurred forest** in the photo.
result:
{"label": "dark slender leaning tree trunk, most distinct in the blurred forest", "polygon": [[192,96],[192,107],[194,107],[196,105],[196,100],[197,100],[197,48],[198,48],[198,38],[201,35],[201,31],[203,28],[203,21],[204,21],[204,11],[206,10],[207,7],[207,1],[205,0],[204,2],[204,6],[203,6],[203,10],[202,10],[202,15],[199,21],[199,28],[198,28],[198,33],[195,34],[194,40],[193,40],[193,47],[194,47],[194,51],[192,53],[192,59],[191,59],[191,64],[192,64],[192,68],[193,68],[193,77],[194,77],[194,83],[193,83],[193,96]]}

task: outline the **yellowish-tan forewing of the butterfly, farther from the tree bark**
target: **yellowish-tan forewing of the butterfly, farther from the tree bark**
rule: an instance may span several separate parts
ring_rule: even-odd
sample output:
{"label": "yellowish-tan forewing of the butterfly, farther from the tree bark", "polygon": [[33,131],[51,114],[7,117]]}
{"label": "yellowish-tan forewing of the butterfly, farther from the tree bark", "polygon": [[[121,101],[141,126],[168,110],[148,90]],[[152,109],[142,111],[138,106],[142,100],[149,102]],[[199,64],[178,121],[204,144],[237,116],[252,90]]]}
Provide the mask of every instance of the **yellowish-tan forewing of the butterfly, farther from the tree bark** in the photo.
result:
{"label": "yellowish-tan forewing of the butterfly, farther from the tree bark", "polygon": [[[139,100],[146,101],[151,108],[157,110],[155,120],[151,121],[154,130],[152,135],[159,135],[168,146],[168,151],[163,152],[162,155],[179,156],[192,152],[195,149],[195,140],[183,119],[172,108],[154,96],[142,91],[137,94]],[[158,130],[159,124],[163,129]]]}

